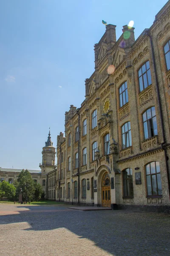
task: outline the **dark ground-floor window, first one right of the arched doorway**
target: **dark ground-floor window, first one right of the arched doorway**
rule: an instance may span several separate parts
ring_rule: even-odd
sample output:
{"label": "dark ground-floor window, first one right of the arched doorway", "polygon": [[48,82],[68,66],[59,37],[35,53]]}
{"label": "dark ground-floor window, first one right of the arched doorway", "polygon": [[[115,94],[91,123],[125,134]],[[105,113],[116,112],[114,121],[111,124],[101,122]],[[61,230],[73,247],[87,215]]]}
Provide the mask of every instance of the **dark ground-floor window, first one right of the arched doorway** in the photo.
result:
{"label": "dark ground-floor window, first one right of the arched doorway", "polygon": [[132,179],[132,169],[127,168],[122,172],[123,174],[123,196],[133,197],[133,179]]}

